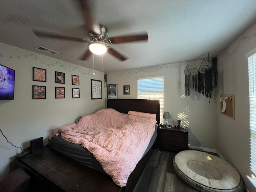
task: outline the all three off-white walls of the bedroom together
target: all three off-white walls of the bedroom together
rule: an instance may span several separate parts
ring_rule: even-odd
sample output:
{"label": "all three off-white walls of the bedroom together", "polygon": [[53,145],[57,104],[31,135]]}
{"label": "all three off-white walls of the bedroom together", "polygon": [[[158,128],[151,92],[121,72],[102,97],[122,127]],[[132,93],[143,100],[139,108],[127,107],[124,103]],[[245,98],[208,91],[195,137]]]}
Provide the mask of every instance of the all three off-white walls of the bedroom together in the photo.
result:
{"label": "all three off-white walls of the bedroom together", "polygon": [[[184,96],[184,68],[186,63],[166,64],[144,69],[114,72],[107,74],[108,84],[118,84],[118,98],[137,98],[137,78],[164,76],[164,110],[172,113],[175,122],[179,114],[187,115],[189,122],[189,141],[192,146],[212,148],[238,169],[250,192],[255,188],[247,180],[250,174],[250,130],[249,130],[249,94],[248,94],[248,62],[245,54],[256,48],[256,24],[247,30],[238,40],[218,56],[218,87],[213,91],[213,98],[191,91]],[[246,37],[246,38],[243,38]],[[247,38],[250,37],[250,38]],[[10,142],[23,149],[29,141],[43,136],[45,140],[50,132],[58,126],[73,122],[82,114],[90,114],[105,107],[106,88],[104,76],[95,76],[88,68],[36,54],[40,60],[50,64],[41,64],[34,57],[17,57],[33,54],[26,50],[0,43],[0,63],[16,70],[15,98],[0,101],[0,128]],[[201,61],[188,62],[191,66],[199,66]],[[32,67],[47,70],[47,82],[32,81]],[[69,70],[65,70],[65,68]],[[66,98],[55,99],[55,71],[66,74]],[[71,74],[80,76],[80,86],[71,85]],[[103,99],[91,100],[90,79],[102,80]],[[47,99],[32,100],[32,85],[46,85]],[[130,85],[130,95],[123,94],[123,86]],[[71,88],[80,88],[80,98],[72,99]],[[220,114],[220,94],[235,95],[235,120]],[[8,172],[8,165],[20,149],[12,147],[0,135],[0,179]]]}

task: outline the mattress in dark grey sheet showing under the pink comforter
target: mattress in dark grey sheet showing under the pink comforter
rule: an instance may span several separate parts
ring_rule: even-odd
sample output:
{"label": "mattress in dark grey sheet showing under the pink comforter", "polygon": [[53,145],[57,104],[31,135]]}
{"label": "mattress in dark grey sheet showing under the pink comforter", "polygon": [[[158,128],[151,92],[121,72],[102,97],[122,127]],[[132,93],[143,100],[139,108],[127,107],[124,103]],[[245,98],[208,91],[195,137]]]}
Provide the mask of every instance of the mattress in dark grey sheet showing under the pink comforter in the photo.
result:
{"label": "mattress in dark grey sheet showing under the pink comforter", "polygon": [[[150,150],[150,148],[153,146],[156,136],[157,136],[157,125],[155,126],[154,134],[150,140],[150,143],[148,147],[146,148],[143,156]],[[64,154],[65,156],[68,156],[90,168],[93,168],[95,170],[98,170],[104,174],[106,172],[103,170],[100,162],[96,160],[96,158],[93,156],[92,153],[90,153],[86,148],[82,147],[81,145],[77,145],[71,142],[68,142],[64,140],[60,135],[58,136],[52,136],[52,138],[49,140],[48,143],[49,147],[56,150],[57,152],[60,152],[61,154]],[[142,156],[142,157],[143,157]]]}

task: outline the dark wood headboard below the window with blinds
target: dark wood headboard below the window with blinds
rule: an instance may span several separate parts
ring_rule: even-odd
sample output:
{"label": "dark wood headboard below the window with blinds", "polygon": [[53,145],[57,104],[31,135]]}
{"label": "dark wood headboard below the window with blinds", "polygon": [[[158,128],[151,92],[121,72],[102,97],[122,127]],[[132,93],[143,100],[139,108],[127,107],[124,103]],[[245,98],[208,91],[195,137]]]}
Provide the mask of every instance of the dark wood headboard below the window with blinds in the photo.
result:
{"label": "dark wood headboard below the window with blinds", "polygon": [[128,111],[139,111],[144,113],[156,113],[156,120],[160,122],[159,100],[147,99],[108,99],[107,108],[112,108],[120,113],[127,114]]}

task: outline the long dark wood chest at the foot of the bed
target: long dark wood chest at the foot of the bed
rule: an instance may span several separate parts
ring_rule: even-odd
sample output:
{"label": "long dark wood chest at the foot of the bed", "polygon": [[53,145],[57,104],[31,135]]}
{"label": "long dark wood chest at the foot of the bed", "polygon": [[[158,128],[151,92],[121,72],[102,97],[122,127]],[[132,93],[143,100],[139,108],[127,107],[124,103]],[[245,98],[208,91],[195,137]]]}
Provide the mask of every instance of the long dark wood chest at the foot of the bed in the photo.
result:
{"label": "long dark wood chest at the foot of the bed", "polygon": [[[54,150],[16,157],[16,166],[31,177],[31,192],[120,192],[110,176]],[[100,182],[99,182],[100,181]]]}

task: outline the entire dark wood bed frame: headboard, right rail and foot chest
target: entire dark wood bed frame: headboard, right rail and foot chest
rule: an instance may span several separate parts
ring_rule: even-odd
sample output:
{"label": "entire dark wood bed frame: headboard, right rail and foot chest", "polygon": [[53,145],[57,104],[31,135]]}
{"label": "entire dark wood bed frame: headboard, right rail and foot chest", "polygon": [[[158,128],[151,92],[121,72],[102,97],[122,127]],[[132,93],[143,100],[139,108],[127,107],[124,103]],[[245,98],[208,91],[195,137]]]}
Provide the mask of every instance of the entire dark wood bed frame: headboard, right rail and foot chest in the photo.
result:
{"label": "entire dark wood bed frame: headboard, right rail and foot chest", "polygon": [[[107,100],[107,107],[122,113],[129,110],[156,114],[159,123],[159,100]],[[157,142],[155,141],[155,144]],[[132,192],[153,154],[154,146],[138,162],[125,187],[114,184],[111,177],[49,147],[26,156],[16,157],[17,168],[31,177],[32,191],[38,192]]]}

